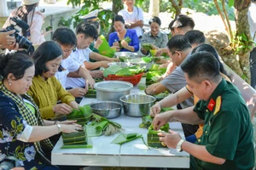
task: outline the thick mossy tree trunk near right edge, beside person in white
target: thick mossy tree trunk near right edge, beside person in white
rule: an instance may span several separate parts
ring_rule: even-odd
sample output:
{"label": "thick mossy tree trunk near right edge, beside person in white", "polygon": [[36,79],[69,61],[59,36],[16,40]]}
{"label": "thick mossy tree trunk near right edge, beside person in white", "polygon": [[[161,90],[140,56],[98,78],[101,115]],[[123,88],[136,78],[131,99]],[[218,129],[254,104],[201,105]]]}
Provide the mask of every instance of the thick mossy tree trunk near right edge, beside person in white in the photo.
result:
{"label": "thick mossy tree trunk near right edge, beside person in white", "polygon": [[[239,1],[239,0],[237,0]],[[249,4],[249,3],[248,3]],[[243,4],[245,7],[245,4]],[[241,34],[245,34],[247,36],[247,40],[251,40],[252,37],[250,35],[250,28],[247,19],[248,5],[243,9],[236,9],[236,36]],[[239,54],[239,63],[241,65],[241,71],[243,72],[243,77],[246,77],[246,81],[250,84],[251,82],[251,74],[250,74],[250,51],[245,48]]]}

